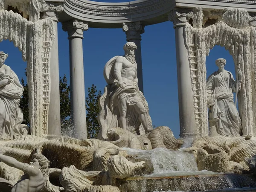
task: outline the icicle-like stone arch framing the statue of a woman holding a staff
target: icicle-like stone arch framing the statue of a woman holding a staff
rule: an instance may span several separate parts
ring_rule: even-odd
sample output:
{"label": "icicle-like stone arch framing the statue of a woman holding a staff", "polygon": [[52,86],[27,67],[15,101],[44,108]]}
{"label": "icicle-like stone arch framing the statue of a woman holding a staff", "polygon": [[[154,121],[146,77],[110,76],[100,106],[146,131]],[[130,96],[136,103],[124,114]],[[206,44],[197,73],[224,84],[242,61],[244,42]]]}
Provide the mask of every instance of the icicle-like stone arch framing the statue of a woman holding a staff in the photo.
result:
{"label": "icicle-like stone arch framing the statue of a woman holding a staff", "polygon": [[[255,132],[253,128],[256,122],[256,29],[249,25],[249,15],[244,9],[230,8],[219,12],[202,12],[198,9],[194,13],[194,27],[186,23],[184,38],[189,54],[197,134],[208,135],[205,63],[209,50],[220,45],[233,56],[235,70],[238,55],[242,56],[240,68],[243,83],[238,95],[239,111],[243,135],[251,137]],[[209,25],[207,20],[216,22]]]}

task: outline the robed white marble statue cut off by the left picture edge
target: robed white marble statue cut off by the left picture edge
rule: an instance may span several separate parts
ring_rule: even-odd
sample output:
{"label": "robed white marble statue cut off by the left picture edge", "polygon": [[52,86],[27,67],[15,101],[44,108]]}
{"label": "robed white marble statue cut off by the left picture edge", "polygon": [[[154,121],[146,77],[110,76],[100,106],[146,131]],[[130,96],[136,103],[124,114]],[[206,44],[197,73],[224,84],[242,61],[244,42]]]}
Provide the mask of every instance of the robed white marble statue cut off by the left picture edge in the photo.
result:
{"label": "robed white marble statue cut off by the left picture edge", "polygon": [[0,52],[0,140],[13,140],[27,134],[20,98],[23,87],[13,70],[4,64],[8,54]]}

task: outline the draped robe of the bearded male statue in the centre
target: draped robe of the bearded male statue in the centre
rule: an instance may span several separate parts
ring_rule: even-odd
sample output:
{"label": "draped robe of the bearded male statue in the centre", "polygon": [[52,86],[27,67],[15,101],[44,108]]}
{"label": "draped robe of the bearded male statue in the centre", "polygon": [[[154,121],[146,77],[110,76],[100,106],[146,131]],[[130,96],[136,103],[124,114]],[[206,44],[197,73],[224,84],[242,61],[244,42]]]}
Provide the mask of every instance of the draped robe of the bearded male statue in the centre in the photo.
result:
{"label": "draped robe of the bearded male statue in the centre", "polygon": [[143,93],[139,90],[137,81],[133,84],[125,84],[124,88],[117,85],[117,78],[114,74],[114,65],[116,58],[111,58],[104,68],[104,78],[108,85],[105,87],[104,94],[99,99],[99,116],[98,122],[101,126],[99,131],[99,139],[107,140],[107,131],[109,128],[120,127],[119,119],[119,108],[118,105],[122,99],[125,99],[127,105],[126,115],[126,129],[134,134],[145,134],[145,129],[140,122],[139,115],[135,111],[133,105],[137,102],[143,102],[146,110],[146,119],[148,128],[152,128],[151,117],[149,116],[148,103],[145,100]]}

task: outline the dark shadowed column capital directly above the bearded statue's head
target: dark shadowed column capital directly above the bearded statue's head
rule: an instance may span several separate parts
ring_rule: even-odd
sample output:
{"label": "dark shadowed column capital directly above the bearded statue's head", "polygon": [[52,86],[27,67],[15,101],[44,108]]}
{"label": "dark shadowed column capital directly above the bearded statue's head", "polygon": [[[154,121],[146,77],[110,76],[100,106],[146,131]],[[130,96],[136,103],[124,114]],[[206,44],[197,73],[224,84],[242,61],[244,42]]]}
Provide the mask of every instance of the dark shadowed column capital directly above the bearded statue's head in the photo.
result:
{"label": "dark shadowed column capital directly above the bearded statue's head", "polygon": [[141,34],[144,33],[144,25],[140,21],[134,23],[123,23],[123,31],[126,34],[126,40],[139,39],[141,40]]}

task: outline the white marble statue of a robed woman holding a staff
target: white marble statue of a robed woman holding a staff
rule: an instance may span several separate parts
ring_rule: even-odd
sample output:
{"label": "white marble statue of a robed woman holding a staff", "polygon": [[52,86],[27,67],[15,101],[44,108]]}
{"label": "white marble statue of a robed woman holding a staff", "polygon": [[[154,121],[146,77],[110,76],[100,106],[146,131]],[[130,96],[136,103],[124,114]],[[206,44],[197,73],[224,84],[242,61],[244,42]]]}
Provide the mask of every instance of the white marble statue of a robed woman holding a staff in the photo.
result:
{"label": "white marble statue of a robed woman holding a staff", "polygon": [[207,79],[207,102],[210,109],[210,121],[214,122],[218,134],[226,137],[240,137],[241,119],[234,104],[233,92],[241,88],[242,72],[237,68],[238,82],[224,69],[226,60],[216,60],[218,71]]}

